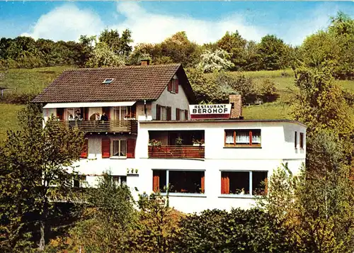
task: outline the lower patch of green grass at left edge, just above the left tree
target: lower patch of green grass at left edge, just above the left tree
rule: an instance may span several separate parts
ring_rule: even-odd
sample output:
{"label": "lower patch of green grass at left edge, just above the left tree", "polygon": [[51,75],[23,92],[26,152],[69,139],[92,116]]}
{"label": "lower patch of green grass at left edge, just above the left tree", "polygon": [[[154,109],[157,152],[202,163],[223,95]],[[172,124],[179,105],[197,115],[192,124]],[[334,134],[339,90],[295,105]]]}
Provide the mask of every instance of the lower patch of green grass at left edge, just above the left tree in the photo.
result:
{"label": "lower patch of green grass at left edge, just above the left tree", "polygon": [[0,140],[5,140],[7,130],[17,130],[17,113],[25,106],[0,103]]}

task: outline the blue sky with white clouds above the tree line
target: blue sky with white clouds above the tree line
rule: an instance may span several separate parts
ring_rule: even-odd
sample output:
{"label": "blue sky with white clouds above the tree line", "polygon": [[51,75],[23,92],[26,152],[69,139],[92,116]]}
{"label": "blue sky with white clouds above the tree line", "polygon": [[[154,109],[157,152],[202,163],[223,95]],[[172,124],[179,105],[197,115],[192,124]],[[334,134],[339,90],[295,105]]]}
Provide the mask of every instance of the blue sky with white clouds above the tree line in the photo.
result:
{"label": "blue sky with white clouds above the tree line", "polygon": [[129,28],[133,45],[182,30],[202,44],[238,30],[247,40],[274,34],[300,45],[338,11],[354,18],[353,1],[0,1],[0,37],[78,40]]}

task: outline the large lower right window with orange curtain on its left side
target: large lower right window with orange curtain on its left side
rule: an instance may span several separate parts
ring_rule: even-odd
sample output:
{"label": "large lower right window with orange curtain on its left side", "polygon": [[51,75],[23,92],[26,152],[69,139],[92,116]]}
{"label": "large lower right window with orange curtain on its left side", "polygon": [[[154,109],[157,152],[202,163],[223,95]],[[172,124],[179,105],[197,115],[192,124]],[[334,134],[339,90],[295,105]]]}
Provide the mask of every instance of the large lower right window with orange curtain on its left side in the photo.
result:
{"label": "large lower right window with orange curtain on its left side", "polygon": [[267,192],[268,172],[222,172],[221,193],[258,196]]}

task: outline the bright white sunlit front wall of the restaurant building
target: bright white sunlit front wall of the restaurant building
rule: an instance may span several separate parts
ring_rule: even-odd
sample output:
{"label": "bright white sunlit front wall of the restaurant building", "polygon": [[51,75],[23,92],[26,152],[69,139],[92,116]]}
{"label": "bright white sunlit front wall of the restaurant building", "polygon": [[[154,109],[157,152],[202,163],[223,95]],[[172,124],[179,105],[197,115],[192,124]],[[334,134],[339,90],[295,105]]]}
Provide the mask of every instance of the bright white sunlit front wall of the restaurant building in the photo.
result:
{"label": "bright white sunlit front wall of the restaurant building", "polygon": [[[261,129],[261,148],[224,148],[224,129]],[[149,130],[205,130],[205,159],[149,159],[147,156]],[[287,121],[232,121],[232,122],[140,122],[135,159],[102,159],[101,136],[89,136],[89,159],[81,159],[79,171],[98,175],[110,169],[114,175],[127,175],[127,168],[138,169],[138,176],[127,176],[137,198],[139,192],[152,193],[152,169],[183,169],[205,171],[205,193],[172,193],[170,204],[186,213],[199,212],[207,208],[250,208],[254,198],[244,196],[222,196],[221,171],[268,171],[288,162],[290,169],[297,172],[304,162],[306,150],[297,152],[294,131],[305,133],[299,123]],[[93,159],[93,160],[91,160]],[[89,176],[90,184],[95,178]]]}

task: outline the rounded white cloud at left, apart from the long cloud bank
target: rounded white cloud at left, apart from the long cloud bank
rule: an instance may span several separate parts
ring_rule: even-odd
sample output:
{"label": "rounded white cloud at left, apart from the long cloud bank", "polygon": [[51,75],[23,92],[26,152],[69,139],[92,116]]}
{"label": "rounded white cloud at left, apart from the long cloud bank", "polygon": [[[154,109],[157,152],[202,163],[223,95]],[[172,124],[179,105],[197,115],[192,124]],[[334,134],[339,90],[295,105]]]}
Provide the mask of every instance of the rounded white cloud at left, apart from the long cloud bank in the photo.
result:
{"label": "rounded white cloud at left, apart from the long cloud bank", "polygon": [[103,30],[101,18],[92,11],[64,4],[42,15],[28,33],[32,38],[77,40],[80,35],[97,35]]}

